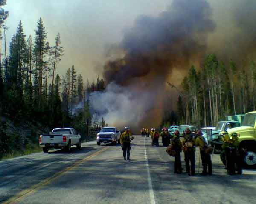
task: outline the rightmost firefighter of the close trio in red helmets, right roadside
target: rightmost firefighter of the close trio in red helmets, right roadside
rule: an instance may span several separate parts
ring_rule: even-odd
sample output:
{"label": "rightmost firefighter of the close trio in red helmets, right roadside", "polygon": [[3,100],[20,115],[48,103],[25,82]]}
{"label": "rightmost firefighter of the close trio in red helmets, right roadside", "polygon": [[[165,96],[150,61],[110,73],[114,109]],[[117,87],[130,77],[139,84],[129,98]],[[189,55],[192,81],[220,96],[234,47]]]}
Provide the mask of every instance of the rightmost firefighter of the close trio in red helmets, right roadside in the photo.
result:
{"label": "rightmost firefighter of the close trio in red helmets, right roadside", "polygon": [[205,142],[205,139],[203,137],[203,133],[201,130],[197,131],[197,138],[195,139],[195,145],[200,148],[200,154],[202,159],[202,165],[203,165],[203,172],[200,173],[202,176],[207,175],[207,166],[208,166],[208,174],[212,175],[212,160],[211,155],[209,153],[206,153],[207,144]]}

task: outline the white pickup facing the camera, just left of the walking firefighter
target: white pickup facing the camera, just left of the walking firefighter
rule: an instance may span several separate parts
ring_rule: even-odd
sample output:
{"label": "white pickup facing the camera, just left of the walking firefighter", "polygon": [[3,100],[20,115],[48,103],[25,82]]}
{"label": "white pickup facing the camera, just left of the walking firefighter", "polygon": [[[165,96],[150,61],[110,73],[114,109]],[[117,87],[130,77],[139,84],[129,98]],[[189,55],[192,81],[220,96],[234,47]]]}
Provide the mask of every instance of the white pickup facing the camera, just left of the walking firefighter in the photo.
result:
{"label": "white pickup facing the camera, just left of the walking firefighter", "polygon": [[112,143],[116,145],[116,142],[120,143],[121,133],[116,127],[103,127],[97,134],[97,145],[101,143],[107,144]]}

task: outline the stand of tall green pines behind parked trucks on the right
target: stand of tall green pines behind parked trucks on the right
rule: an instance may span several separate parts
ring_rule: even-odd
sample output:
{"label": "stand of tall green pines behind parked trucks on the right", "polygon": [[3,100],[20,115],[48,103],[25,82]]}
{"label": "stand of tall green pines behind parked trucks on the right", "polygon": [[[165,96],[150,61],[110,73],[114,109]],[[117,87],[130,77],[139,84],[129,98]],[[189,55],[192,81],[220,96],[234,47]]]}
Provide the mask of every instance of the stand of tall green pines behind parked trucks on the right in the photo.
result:
{"label": "stand of tall green pines behind parked trucks on the right", "polygon": [[179,122],[214,126],[225,116],[237,113],[236,109],[240,114],[255,109],[255,63],[250,64],[250,75],[247,70],[245,63],[239,67],[232,59],[226,66],[214,54],[205,58],[201,70],[192,66],[181,82]]}

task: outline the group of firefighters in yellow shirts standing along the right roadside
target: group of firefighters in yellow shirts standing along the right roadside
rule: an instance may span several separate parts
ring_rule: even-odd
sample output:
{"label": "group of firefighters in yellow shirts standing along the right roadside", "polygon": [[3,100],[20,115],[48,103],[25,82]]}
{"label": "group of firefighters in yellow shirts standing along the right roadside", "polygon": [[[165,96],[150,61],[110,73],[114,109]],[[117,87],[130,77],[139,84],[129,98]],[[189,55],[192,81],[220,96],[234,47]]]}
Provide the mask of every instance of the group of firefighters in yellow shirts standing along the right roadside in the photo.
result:
{"label": "group of firefighters in yellow shirts standing along the right roadside", "polygon": [[[148,130],[141,130],[142,136],[148,136]],[[200,156],[203,166],[203,171],[200,173],[202,176],[212,175],[212,159],[211,154],[214,148],[209,147],[201,130],[192,133],[189,128],[183,132],[183,138],[180,139],[180,132],[174,132],[171,136],[167,128],[163,128],[159,134],[157,129],[152,128],[149,133],[151,136],[152,146],[159,146],[159,137],[162,137],[163,146],[169,146],[174,150],[175,164],[174,173],[182,173],[180,153],[184,152],[186,173],[189,176],[195,176],[195,147],[199,147]],[[227,132],[223,132],[222,155],[224,155],[226,162],[227,173],[233,175],[236,173],[242,174],[242,154],[243,150],[239,149],[239,141],[237,133],[232,134],[232,139],[229,138]],[[168,149],[168,148],[167,148]],[[208,168],[208,171],[207,171]]]}

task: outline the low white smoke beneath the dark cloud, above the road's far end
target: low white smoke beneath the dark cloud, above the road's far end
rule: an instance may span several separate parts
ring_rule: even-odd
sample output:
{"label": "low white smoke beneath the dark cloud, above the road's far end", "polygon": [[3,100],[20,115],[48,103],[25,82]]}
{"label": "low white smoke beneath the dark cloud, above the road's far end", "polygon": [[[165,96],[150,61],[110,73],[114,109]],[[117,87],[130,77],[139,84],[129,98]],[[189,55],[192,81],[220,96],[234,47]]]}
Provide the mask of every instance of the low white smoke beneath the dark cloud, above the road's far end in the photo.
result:
{"label": "low white smoke beneath the dark cloud, above the road's far end", "polygon": [[[93,92],[90,105],[98,118],[104,118],[108,126],[119,129],[125,126],[140,129],[141,123],[153,109],[153,94],[136,86],[123,87],[111,82],[105,92]],[[156,123],[156,122],[155,122]]]}

